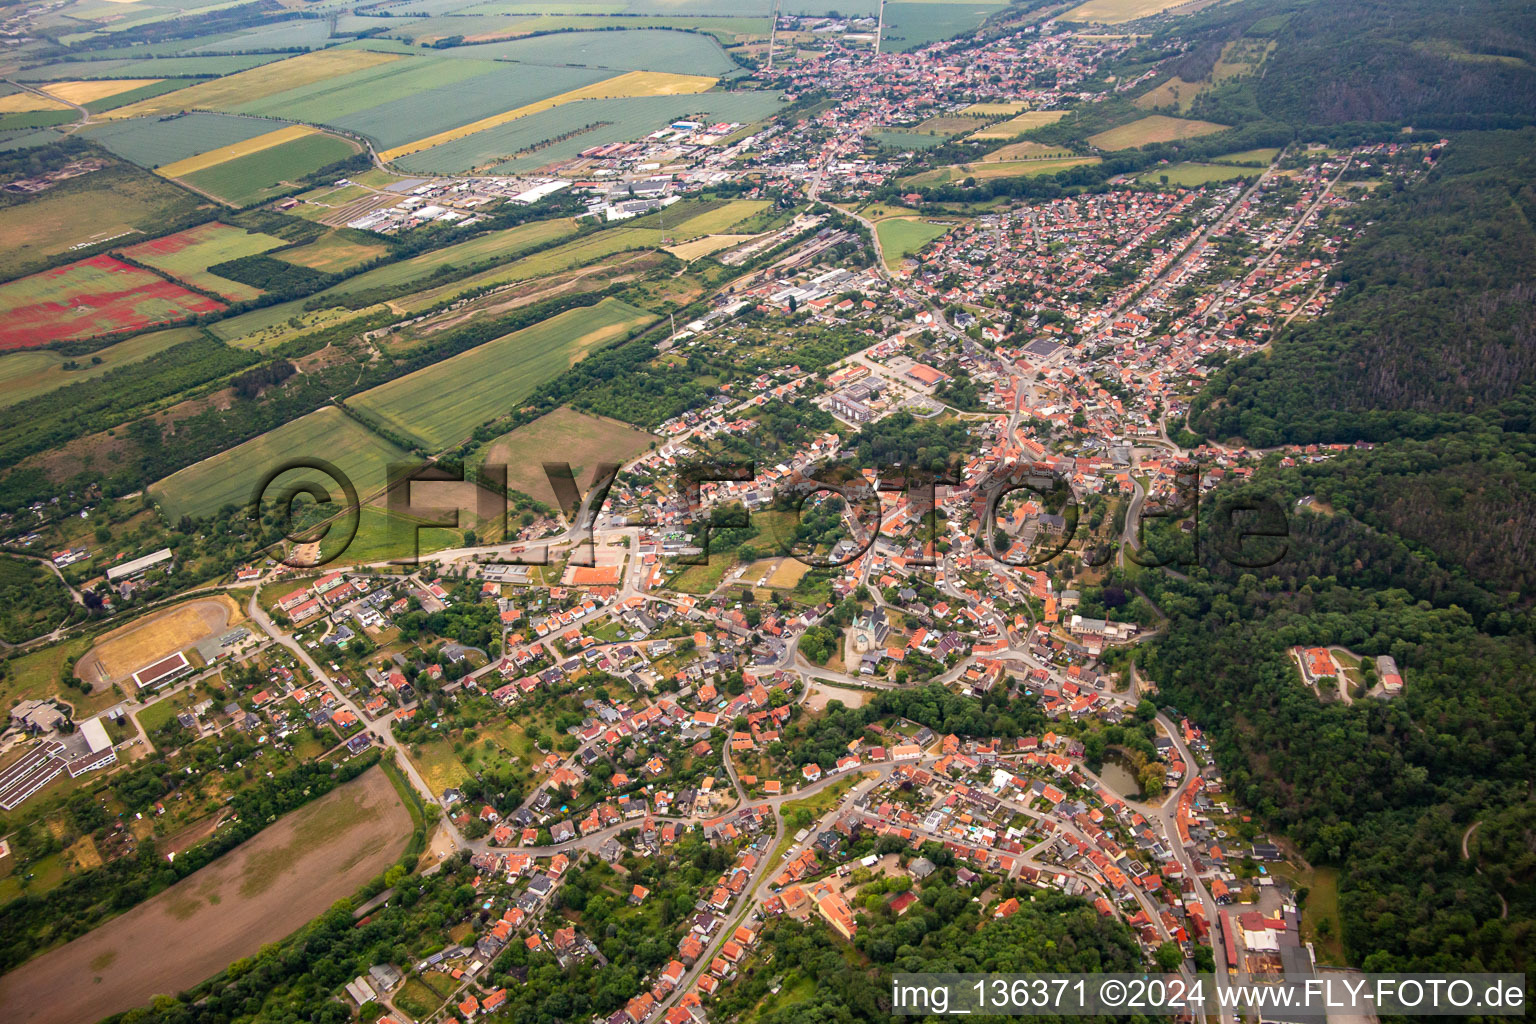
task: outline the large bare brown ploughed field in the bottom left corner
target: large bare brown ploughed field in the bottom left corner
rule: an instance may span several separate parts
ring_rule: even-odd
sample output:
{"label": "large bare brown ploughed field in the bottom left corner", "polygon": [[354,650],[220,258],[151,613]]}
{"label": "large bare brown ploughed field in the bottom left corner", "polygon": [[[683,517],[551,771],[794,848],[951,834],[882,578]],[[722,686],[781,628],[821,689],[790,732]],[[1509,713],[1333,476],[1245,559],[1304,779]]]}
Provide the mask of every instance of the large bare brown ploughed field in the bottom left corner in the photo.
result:
{"label": "large bare brown ploughed field in the bottom left corner", "polygon": [[[398,858],[410,814],[379,769],[170,889],[0,978],[12,1024],[92,1024],[253,956]],[[146,958],[143,952],[154,949]]]}

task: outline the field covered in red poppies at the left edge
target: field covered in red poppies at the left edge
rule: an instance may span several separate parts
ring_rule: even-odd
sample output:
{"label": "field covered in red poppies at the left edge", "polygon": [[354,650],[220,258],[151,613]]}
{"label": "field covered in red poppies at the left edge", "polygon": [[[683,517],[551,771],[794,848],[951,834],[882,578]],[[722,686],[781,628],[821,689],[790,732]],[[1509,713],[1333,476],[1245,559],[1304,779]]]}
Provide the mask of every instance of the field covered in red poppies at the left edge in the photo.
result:
{"label": "field covered in red poppies at the left edge", "polygon": [[112,256],[0,284],[0,352],[217,313],[223,304]]}

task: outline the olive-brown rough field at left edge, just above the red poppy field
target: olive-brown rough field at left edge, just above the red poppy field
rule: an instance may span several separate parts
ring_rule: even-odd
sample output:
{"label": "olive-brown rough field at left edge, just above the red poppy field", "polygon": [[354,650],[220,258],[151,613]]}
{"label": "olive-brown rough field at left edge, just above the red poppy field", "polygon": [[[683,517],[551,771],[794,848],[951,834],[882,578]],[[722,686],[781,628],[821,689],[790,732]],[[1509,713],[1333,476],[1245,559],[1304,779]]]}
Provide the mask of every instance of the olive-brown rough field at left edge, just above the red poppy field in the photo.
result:
{"label": "olive-brown rough field at left edge, just above the red poppy field", "polygon": [[158,235],[166,223],[187,223],[207,200],[138,167],[115,163],[69,178],[0,216],[0,278],[48,266],[75,247],[127,235]]}

